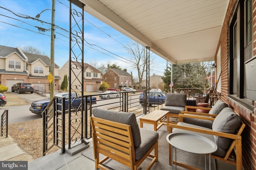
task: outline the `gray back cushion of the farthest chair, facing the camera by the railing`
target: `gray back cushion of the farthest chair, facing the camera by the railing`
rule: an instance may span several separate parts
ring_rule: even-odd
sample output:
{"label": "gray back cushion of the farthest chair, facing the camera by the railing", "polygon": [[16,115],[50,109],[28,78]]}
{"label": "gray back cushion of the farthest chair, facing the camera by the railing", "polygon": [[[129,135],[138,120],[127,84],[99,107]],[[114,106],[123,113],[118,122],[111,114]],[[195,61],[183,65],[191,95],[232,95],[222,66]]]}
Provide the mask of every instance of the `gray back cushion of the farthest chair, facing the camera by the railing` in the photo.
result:
{"label": "gray back cushion of the farthest chair, facing the camera by the railing", "polygon": [[174,94],[174,93],[166,94],[164,104],[165,106],[185,107],[187,104],[187,96],[186,94]]}

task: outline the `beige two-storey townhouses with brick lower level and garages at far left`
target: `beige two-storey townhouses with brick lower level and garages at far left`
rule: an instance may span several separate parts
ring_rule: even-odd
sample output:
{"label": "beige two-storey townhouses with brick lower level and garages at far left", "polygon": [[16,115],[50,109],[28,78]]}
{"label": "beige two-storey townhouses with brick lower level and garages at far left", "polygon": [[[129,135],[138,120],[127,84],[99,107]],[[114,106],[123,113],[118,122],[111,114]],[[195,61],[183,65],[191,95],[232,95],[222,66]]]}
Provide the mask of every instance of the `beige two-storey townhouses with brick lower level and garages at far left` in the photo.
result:
{"label": "beige two-storey townhouses with brick lower level and garages at far left", "polygon": [[[54,90],[59,90],[59,66],[55,64]],[[22,52],[18,47],[0,45],[0,84],[11,91],[13,84],[30,82],[49,92],[47,76],[50,72],[50,59],[47,56]]]}

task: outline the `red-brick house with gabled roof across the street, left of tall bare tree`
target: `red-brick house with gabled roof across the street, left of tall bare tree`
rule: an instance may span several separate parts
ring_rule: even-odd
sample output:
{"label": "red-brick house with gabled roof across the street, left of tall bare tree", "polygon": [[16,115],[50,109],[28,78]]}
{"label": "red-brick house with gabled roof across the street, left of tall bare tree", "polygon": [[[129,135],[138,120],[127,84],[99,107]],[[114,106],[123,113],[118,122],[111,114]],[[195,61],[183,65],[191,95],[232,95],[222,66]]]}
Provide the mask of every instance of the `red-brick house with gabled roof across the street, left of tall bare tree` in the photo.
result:
{"label": "red-brick house with gabled roof across the street, left of tall bare tree", "polygon": [[132,75],[127,72],[127,69],[118,70],[110,68],[105,74],[105,81],[111,88],[132,87]]}

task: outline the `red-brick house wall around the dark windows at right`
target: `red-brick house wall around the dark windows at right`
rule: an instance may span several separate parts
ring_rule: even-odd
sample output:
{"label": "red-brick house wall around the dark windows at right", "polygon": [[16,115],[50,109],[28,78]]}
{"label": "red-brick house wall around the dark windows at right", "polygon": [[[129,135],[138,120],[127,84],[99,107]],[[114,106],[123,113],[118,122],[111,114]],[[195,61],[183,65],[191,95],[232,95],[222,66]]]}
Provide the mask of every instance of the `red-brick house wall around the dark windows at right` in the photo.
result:
{"label": "red-brick house wall around the dark windows at right", "polygon": [[[232,13],[234,12],[234,7],[236,0],[230,0],[229,6],[226,12],[226,18],[224,20],[222,31],[220,34],[220,39],[218,47],[216,49],[216,56],[219,48],[221,49],[221,96],[220,98],[224,100],[230,107],[238,113],[244,122],[246,127],[242,133],[242,166],[244,170],[256,170],[256,102],[254,102],[254,111],[250,111],[246,107],[240,105],[238,102],[228,98],[228,24]],[[256,0],[253,0],[253,55],[256,55]],[[217,63],[217,62],[216,62]],[[220,72],[220,70],[216,70]],[[217,79],[217,77],[216,77]]]}

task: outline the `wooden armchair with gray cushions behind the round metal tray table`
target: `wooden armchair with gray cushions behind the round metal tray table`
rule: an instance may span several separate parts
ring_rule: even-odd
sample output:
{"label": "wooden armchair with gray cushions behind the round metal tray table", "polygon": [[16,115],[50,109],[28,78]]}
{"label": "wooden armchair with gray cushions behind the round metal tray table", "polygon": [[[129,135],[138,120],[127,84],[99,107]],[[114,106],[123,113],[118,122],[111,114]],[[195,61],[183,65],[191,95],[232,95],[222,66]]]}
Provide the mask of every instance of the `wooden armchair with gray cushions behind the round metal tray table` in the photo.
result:
{"label": "wooden armchair with gray cushions behind the round metal tray table", "polygon": [[[212,129],[200,127],[198,125],[192,125],[189,123],[179,122],[177,125],[169,124],[169,133],[186,132],[207,137],[208,139],[214,141],[218,147],[216,152],[213,152],[211,154],[212,158],[233,164],[236,166],[237,170],[242,170],[241,133],[245,127],[245,124],[243,123],[238,114],[236,114],[231,108],[225,107],[218,115],[211,115],[213,117],[184,114],[180,114],[180,116],[182,116],[183,118],[190,117],[196,119],[213,120]],[[236,153],[234,152],[234,149],[236,150]],[[171,153],[172,147],[170,146],[170,164],[172,163]],[[178,166],[182,166],[188,169],[195,169],[194,167],[182,164],[182,162],[176,162],[176,164]]]}

